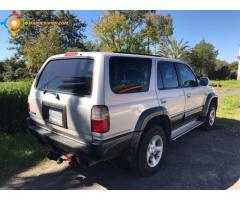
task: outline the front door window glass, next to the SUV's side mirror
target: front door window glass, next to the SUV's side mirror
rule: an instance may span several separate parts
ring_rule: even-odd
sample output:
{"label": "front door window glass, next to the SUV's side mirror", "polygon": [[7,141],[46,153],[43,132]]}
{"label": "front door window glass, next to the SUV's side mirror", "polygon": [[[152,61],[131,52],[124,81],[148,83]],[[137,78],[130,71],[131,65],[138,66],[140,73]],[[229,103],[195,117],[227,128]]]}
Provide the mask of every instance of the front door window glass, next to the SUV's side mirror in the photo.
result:
{"label": "front door window glass, next to the SUV's side mirror", "polygon": [[195,87],[197,86],[197,80],[192,70],[184,64],[177,63],[179,74],[181,77],[181,83],[183,87]]}

